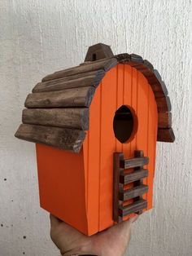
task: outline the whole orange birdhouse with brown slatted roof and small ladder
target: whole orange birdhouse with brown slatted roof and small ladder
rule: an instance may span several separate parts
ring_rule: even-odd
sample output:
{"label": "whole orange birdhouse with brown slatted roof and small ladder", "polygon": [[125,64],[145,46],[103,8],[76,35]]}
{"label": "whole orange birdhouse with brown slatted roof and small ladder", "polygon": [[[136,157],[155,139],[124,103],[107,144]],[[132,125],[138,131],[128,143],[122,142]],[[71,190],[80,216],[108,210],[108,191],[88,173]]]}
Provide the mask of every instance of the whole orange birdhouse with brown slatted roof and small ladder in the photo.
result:
{"label": "whole orange birdhouse with brown slatted roof and small ladder", "polygon": [[153,207],[157,141],[173,142],[168,90],[152,64],[90,46],[42,78],[15,136],[36,143],[41,207],[90,236]]}

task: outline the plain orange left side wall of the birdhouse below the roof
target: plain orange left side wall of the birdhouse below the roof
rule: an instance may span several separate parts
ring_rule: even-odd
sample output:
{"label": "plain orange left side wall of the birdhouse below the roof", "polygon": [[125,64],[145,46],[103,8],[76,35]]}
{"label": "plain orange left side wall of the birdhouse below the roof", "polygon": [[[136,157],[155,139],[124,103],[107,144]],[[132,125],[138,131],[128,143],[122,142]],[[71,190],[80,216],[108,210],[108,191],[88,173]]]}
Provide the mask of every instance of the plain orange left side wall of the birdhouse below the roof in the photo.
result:
{"label": "plain orange left side wall of the birdhouse below the roof", "polygon": [[40,205],[88,234],[83,151],[76,154],[36,144]]}

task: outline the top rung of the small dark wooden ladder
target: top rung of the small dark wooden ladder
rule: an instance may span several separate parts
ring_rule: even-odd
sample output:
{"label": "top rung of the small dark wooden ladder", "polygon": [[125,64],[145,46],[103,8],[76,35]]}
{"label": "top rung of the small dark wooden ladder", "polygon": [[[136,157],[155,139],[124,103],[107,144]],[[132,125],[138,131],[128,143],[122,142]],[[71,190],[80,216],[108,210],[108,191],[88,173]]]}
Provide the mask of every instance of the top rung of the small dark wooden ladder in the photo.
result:
{"label": "top rung of the small dark wooden ladder", "polygon": [[138,166],[145,166],[149,163],[149,157],[135,157],[120,161],[120,168],[129,169]]}

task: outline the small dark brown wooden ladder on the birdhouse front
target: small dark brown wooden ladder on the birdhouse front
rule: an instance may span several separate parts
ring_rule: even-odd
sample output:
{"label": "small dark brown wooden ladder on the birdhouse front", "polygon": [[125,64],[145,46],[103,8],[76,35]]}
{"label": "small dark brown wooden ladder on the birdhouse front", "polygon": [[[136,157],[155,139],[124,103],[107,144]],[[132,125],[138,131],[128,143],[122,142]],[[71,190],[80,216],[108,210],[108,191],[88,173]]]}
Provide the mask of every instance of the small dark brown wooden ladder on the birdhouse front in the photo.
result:
{"label": "small dark brown wooden ladder on the birdhouse front", "polygon": [[[124,153],[114,152],[113,155],[113,220],[120,223],[129,214],[142,214],[147,201],[142,195],[148,192],[148,186],[143,184],[143,178],[149,171],[143,166],[149,163],[149,157],[144,157],[142,150],[134,152],[134,158],[124,159]],[[132,172],[124,170],[133,168]],[[133,183],[133,188],[124,189],[124,185]],[[124,201],[133,199],[133,203],[124,206]]]}

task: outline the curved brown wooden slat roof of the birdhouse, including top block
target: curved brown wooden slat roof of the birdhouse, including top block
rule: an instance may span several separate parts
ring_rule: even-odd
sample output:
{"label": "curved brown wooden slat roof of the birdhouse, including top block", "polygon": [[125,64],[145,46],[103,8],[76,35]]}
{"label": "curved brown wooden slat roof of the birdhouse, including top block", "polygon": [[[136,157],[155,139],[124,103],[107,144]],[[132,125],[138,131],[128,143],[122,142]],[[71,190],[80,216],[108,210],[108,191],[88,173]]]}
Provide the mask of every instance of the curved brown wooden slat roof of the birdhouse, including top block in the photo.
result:
{"label": "curved brown wooden slat roof of the birdhouse, including top block", "polygon": [[90,46],[85,63],[43,77],[27,96],[15,137],[80,152],[89,130],[89,105],[103,77],[117,64],[141,72],[154,92],[158,108],[158,141],[173,142],[171,103],[158,71],[135,54],[113,55],[103,44]]}

